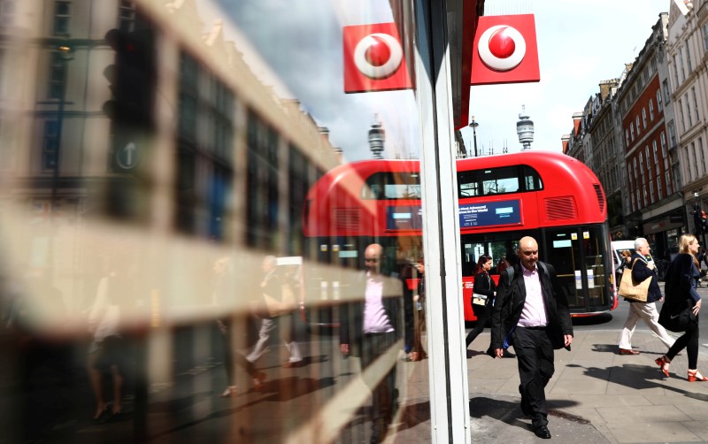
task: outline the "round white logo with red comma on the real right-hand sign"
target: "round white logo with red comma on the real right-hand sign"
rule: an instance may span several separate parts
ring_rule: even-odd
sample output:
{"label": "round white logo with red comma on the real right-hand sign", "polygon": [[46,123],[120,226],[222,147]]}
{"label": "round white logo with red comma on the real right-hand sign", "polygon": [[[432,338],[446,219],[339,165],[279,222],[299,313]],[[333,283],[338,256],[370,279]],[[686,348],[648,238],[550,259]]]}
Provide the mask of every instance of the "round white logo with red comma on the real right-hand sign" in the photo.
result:
{"label": "round white logo with red comma on the real right-hand sign", "polygon": [[495,71],[510,71],[526,56],[526,41],[516,28],[496,25],[481,34],[478,49],[484,65]]}

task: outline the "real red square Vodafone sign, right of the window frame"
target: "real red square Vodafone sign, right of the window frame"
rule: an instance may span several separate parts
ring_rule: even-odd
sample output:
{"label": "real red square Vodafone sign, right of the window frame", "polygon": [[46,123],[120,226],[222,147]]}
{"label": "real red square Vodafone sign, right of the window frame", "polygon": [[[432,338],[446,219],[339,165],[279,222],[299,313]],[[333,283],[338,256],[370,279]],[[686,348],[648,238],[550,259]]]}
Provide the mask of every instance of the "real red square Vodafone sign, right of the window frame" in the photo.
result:
{"label": "real red square Vodafone sign, right of the window frame", "polygon": [[472,51],[472,85],[541,80],[533,14],[482,16]]}

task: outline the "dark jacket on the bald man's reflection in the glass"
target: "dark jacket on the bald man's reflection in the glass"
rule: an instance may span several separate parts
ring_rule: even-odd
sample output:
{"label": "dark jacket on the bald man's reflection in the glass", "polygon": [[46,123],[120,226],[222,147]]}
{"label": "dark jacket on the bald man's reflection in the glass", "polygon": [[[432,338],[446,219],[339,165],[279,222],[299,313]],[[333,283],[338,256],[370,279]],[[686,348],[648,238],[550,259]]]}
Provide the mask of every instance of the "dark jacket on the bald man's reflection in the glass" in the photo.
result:
{"label": "dark jacket on the bald man's reflection in the glass", "polygon": [[[383,276],[383,307],[396,331],[396,340],[401,339],[404,334],[404,313],[401,305],[403,286],[404,282],[397,276]],[[344,292],[349,302],[342,302],[339,309],[339,343],[350,345],[351,356],[360,356],[361,339],[364,335],[365,294],[366,272],[359,272]]]}

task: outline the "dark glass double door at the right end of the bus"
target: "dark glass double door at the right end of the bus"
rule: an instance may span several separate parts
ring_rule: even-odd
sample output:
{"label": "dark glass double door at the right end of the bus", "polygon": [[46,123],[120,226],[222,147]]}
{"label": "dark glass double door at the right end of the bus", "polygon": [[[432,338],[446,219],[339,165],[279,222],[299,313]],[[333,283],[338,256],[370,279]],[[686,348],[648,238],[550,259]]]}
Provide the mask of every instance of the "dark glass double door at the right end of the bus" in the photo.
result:
{"label": "dark glass double door at the right end of the bus", "polygon": [[571,313],[592,313],[612,306],[605,270],[606,234],[602,226],[548,228],[543,230],[545,257],[556,269],[566,289]]}

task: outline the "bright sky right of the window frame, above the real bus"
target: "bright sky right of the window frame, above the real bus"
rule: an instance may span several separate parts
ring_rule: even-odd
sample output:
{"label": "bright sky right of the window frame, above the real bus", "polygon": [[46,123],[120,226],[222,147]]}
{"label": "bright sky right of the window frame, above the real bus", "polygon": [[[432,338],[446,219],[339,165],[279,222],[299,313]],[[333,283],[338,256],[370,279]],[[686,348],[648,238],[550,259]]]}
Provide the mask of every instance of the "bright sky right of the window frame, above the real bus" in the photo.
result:
{"label": "bright sky right of the window frame, above the real bus", "polygon": [[[470,89],[470,119],[479,123],[478,150],[500,153],[506,144],[509,152],[519,151],[516,122],[525,106],[535,126],[531,148],[561,151],[561,137],[573,129],[573,112],[582,111],[599,92],[600,81],[620,77],[671,1],[487,0],[485,15],[535,15],[541,81]],[[462,133],[471,147],[472,130]]]}

